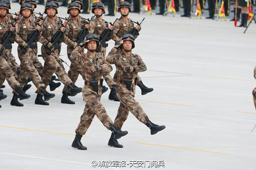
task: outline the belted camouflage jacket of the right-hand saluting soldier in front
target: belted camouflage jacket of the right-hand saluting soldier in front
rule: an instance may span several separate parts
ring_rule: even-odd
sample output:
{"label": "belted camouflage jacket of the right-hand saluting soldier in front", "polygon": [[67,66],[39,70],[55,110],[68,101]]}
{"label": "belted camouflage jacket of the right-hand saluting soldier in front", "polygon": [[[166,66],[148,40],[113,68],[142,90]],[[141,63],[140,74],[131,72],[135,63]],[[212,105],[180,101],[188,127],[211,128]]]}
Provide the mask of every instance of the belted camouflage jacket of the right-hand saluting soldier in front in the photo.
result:
{"label": "belted camouflage jacket of the right-hand saluting soldier in front", "polygon": [[[131,56],[125,56],[122,53],[116,53],[117,49],[112,48],[107,56],[107,61],[110,64],[116,65],[116,75],[119,79],[135,79],[138,77],[138,72],[143,72],[147,70],[147,66],[138,54],[132,54]],[[134,70],[131,72],[125,72],[126,67],[133,67]],[[132,88],[129,91],[126,85],[120,82],[116,82],[116,93],[130,93],[135,96],[136,85],[132,83]]]}

